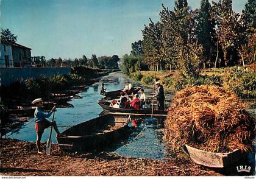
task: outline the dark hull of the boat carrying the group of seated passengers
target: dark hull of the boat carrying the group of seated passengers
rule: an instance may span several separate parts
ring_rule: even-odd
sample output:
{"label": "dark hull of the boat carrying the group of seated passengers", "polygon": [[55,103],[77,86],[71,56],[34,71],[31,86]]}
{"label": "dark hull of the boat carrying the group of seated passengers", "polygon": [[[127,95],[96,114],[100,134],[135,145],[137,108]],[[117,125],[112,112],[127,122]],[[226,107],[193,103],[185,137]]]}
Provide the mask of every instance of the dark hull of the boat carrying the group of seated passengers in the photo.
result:
{"label": "dark hull of the boat carrying the group of seated passengers", "polygon": [[[141,110],[126,109],[126,108],[113,108],[110,107],[110,102],[107,100],[98,100],[98,104],[107,111],[114,113],[133,113],[133,114],[152,114],[151,108],[142,108]],[[153,114],[165,114],[167,115],[167,110],[153,110]]]}

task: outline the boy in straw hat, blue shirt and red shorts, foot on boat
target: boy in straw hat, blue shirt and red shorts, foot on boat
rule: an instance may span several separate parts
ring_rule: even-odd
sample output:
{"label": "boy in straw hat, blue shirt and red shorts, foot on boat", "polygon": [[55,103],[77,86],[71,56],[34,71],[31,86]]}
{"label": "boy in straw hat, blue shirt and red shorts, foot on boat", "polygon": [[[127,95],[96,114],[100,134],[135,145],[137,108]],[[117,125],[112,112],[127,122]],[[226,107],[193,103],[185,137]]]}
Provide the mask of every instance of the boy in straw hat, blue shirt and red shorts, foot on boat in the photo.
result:
{"label": "boy in straw hat, blue shirt and red shorts, foot on boat", "polygon": [[55,121],[50,122],[46,119],[51,116],[51,114],[55,111],[56,107],[54,106],[49,113],[44,113],[43,110],[41,109],[43,107],[43,100],[41,98],[33,100],[32,104],[37,106],[37,108],[35,108],[35,113],[34,113],[35,130],[37,132],[37,150],[39,154],[44,154],[43,149],[41,149],[41,137],[43,135],[44,129],[53,125],[54,130],[57,133],[57,136],[60,135],[56,122]]}

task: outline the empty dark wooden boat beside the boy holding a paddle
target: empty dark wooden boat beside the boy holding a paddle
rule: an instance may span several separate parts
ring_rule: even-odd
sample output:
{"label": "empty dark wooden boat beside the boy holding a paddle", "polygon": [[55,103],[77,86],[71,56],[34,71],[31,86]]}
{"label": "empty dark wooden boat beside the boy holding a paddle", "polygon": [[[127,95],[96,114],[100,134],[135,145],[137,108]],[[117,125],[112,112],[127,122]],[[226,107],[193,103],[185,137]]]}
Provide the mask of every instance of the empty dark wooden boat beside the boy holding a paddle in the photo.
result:
{"label": "empty dark wooden boat beside the boy holding a paddle", "polygon": [[129,115],[107,114],[68,128],[57,141],[60,149],[96,151],[124,138],[129,133]]}

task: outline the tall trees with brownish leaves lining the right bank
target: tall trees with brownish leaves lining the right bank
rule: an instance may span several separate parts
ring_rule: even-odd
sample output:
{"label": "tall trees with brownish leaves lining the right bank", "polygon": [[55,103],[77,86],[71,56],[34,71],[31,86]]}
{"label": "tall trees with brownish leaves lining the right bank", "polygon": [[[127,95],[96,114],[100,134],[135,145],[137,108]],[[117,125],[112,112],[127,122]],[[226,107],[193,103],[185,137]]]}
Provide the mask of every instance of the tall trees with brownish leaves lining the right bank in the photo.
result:
{"label": "tall trees with brownish leaves lining the right bank", "polygon": [[143,40],[132,43],[130,56],[142,58],[141,63],[151,70],[182,69],[187,74],[254,63],[255,7],[255,0],[248,0],[240,15],[232,10],[232,0],[212,5],[201,0],[196,10],[187,0],[176,0],[174,10],[162,4],[160,20],[149,19],[142,30]]}

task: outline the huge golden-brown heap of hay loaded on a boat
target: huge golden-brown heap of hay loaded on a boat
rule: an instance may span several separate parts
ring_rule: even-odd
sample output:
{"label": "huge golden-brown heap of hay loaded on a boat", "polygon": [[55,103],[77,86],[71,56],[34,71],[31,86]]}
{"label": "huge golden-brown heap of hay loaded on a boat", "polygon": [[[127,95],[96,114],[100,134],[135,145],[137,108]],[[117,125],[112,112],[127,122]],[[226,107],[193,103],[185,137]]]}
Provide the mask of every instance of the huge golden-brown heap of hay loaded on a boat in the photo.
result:
{"label": "huge golden-brown heap of hay loaded on a boat", "polygon": [[193,86],[176,93],[165,122],[165,139],[176,150],[185,144],[207,152],[252,150],[255,121],[233,91]]}

